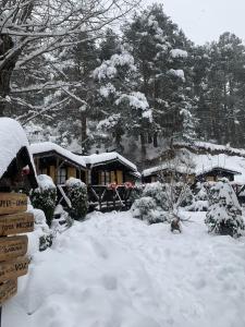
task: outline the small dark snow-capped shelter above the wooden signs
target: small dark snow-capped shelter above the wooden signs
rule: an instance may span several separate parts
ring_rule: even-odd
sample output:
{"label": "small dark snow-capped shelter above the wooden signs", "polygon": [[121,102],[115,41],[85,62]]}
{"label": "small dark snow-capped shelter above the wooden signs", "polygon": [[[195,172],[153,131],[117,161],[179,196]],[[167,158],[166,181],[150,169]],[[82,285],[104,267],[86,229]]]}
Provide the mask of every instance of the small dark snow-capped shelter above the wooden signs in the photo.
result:
{"label": "small dark snow-capped shelter above the wooden signs", "polygon": [[37,187],[35,165],[29,144],[21,124],[10,118],[0,118],[0,191]]}

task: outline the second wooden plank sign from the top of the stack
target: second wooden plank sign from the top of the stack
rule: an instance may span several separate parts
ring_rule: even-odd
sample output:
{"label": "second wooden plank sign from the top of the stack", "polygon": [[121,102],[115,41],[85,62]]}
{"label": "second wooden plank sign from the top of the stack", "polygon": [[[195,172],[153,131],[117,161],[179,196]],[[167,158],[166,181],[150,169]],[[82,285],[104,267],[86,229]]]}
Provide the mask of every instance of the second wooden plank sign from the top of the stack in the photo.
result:
{"label": "second wooden plank sign from the top of the stack", "polygon": [[0,237],[27,233],[34,230],[34,215],[21,213],[0,216]]}

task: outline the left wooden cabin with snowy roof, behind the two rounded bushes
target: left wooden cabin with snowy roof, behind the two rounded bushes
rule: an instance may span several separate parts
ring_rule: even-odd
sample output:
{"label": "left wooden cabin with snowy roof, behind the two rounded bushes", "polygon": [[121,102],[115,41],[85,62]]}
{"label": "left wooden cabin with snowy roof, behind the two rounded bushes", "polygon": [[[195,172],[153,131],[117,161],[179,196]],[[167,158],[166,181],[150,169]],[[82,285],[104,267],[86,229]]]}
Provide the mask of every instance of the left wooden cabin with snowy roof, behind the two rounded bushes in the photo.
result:
{"label": "left wooden cabin with snowy roof, behind the two rounded bushes", "polygon": [[48,174],[56,185],[64,185],[69,178],[77,178],[86,182],[86,164],[82,156],[52,142],[30,145],[37,174]]}

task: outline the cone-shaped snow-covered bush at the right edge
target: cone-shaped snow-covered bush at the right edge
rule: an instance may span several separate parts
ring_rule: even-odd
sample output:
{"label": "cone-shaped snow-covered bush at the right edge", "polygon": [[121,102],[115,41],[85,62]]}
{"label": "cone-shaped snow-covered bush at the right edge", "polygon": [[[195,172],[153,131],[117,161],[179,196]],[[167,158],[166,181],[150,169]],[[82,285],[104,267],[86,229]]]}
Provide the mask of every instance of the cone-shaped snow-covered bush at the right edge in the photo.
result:
{"label": "cone-shaped snow-covered bush at the right edge", "polygon": [[242,209],[226,179],[211,186],[209,198],[210,207],[205,220],[209,232],[240,237],[245,229]]}

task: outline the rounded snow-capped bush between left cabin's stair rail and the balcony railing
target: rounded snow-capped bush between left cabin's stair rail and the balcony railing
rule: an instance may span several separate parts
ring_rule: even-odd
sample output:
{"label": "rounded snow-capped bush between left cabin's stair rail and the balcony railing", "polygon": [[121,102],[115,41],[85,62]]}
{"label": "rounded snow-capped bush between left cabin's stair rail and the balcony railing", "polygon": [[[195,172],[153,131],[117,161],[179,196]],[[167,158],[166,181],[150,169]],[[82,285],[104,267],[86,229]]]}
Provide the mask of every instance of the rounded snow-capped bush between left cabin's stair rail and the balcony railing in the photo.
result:
{"label": "rounded snow-capped bush between left cabin's stair rail and the balcony railing", "polygon": [[70,178],[65,185],[72,204],[70,216],[77,220],[84,219],[88,209],[87,185],[75,178]]}

